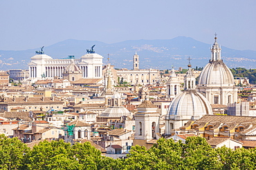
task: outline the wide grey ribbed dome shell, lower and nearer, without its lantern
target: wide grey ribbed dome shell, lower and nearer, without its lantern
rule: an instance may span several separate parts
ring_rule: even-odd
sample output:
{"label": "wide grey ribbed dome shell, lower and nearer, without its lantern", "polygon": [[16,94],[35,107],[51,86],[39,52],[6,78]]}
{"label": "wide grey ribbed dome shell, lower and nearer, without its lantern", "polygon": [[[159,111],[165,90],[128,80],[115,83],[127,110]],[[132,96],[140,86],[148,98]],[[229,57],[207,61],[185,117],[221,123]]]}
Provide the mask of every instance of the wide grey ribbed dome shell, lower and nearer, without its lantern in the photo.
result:
{"label": "wide grey ribbed dome shell, lower and nearer, without its lantern", "polygon": [[174,119],[195,120],[203,115],[212,114],[212,107],[202,94],[195,89],[187,89],[172,100],[168,114]]}

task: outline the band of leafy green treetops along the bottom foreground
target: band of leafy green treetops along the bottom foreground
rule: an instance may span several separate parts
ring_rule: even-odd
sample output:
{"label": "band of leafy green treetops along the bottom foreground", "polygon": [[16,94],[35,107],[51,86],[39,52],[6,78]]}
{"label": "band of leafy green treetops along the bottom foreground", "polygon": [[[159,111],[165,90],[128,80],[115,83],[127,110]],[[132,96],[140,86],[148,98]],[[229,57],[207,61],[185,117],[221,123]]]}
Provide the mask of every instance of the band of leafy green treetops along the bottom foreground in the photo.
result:
{"label": "band of leafy green treetops along the bottom foreground", "polygon": [[126,159],[101,156],[89,142],[42,141],[33,149],[0,135],[1,169],[255,169],[256,149],[212,149],[205,138],[161,138],[150,149],[131,147]]}

